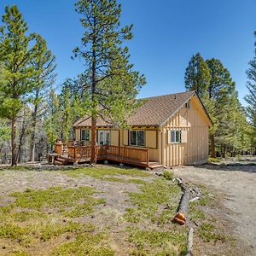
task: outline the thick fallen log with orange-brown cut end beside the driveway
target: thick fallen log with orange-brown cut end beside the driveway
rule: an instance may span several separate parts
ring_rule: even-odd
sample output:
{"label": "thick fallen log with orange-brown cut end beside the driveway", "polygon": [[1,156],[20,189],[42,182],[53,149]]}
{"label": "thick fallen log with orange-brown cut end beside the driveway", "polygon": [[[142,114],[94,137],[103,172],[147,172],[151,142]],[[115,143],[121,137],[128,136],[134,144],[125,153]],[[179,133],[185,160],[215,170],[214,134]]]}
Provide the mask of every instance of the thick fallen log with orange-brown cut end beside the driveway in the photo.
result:
{"label": "thick fallen log with orange-brown cut end beside the driveway", "polygon": [[173,218],[173,221],[183,225],[188,218],[190,189],[183,184],[181,178],[177,178],[177,184],[183,190],[183,196],[181,198],[176,216]]}

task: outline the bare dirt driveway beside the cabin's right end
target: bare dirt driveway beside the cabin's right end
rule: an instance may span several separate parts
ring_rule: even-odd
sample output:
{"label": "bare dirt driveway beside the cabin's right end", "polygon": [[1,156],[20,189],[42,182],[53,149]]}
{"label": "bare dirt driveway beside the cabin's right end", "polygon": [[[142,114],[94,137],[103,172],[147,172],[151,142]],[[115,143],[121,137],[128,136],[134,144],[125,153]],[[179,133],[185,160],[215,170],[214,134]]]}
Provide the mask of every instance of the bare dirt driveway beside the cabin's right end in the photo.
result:
{"label": "bare dirt driveway beside the cabin's right end", "polygon": [[256,158],[177,167],[174,172],[176,177],[201,183],[219,196],[220,212],[243,243],[244,255],[256,255]]}

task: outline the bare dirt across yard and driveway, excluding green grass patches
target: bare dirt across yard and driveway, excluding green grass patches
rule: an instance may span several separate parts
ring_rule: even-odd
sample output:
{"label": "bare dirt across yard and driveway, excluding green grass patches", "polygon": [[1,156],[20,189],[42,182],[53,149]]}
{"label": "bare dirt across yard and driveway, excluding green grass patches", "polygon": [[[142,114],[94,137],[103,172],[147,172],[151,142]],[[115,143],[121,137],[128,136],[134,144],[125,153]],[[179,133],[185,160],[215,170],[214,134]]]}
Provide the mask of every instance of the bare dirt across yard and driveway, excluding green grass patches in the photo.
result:
{"label": "bare dirt across yard and driveway, excluding green grass patches", "polygon": [[[109,174],[108,170],[106,170],[108,175],[101,177],[100,174],[96,175],[97,172],[91,168],[86,169],[86,172],[83,169],[75,171],[75,168],[68,168],[38,164],[38,166],[29,167],[19,166],[17,169],[12,170],[0,166],[0,208],[15,202],[15,198],[10,196],[14,192],[20,191],[24,193],[27,189],[49,189],[56,186],[60,186],[63,189],[76,189],[87,186],[96,189],[95,197],[104,199],[105,203],[95,206],[94,212],[79,218],[73,218],[73,220],[80,224],[94,224],[97,230],[104,231],[104,229],[108,228],[111,234],[108,245],[114,247],[115,255],[131,255],[135,247],[140,249],[148,239],[152,239],[152,236],[149,235],[147,239],[143,236],[128,236],[126,228],[130,224],[143,230],[147,230],[150,227],[150,231],[152,229],[160,229],[161,231],[174,229],[175,233],[173,234],[179,234],[179,232],[194,227],[193,255],[256,255],[256,158],[239,162],[226,161],[203,166],[173,168],[175,177],[182,177],[183,182],[188,183],[190,188],[200,188],[201,191],[204,191],[203,193],[206,193],[203,198],[208,201],[206,204],[203,201],[198,201],[194,207],[191,207],[191,216],[183,227],[172,224],[172,216],[174,216],[172,207],[173,211],[176,211],[181,196],[180,193],[177,193],[171,204],[159,205],[162,210],[171,206],[171,212],[166,215],[169,220],[164,224],[157,224],[148,218],[143,219],[140,224],[129,223],[125,220],[124,216],[127,209],[135,207],[129,195],[142,192],[143,184],[134,183],[132,179],[137,178],[142,182],[151,183],[160,179],[160,177],[154,175],[154,172],[143,172],[143,170],[134,169],[135,173],[132,175],[132,170],[127,167],[126,171],[131,174],[119,175],[118,168],[113,169],[112,174]],[[98,166],[98,168],[98,171],[101,171],[109,167]],[[120,170],[125,172],[125,169]],[[163,171],[161,170],[160,172]],[[145,175],[142,176],[141,172]],[[110,179],[108,180],[108,178]],[[127,182],[129,180],[131,182]],[[173,181],[168,182],[173,183]],[[155,190],[153,192],[161,195],[164,191],[157,192]],[[152,200],[150,195],[148,196],[148,199],[146,199],[148,201]],[[150,204],[147,207],[149,208]],[[47,214],[54,214],[51,210],[46,212]],[[160,216],[157,218],[160,218]],[[60,220],[62,221],[62,217],[60,217]],[[21,224],[24,225],[24,223]],[[214,232],[211,233],[209,231],[204,233],[204,236],[201,236],[200,232],[203,231],[204,224],[213,224]],[[70,236],[74,237],[74,234]],[[133,237],[137,240],[130,241]],[[211,241],[204,241],[207,238],[210,238]],[[235,239],[233,240],[233,238]],[[159,239],[157,241],[161,241],[163,237]],[[54,250],[54,247],[61,245],[65,241],[66,235],[63,235],[53,240],[45,241],[44,246],[40,241],[39,247],[32,244],[30,247],[24,248],[13,240],[0,239],[0,255],[10,255],[9,252],[14,251],[16,248],[24,249],[29,253],[28,255],[34,255],[34,252],[37,252],[37,255],[49,255]],[[147,242],[147,247],[150,247],[150,244],[156,241],[149,240]],[[40,246],[41,244],[42,246]],[[162,246],[161,244],[162,242],[160,242],[160,245],[155,246],[160,247]],[[142,252],[132,255],[151,255],[151,253],[143,254]],[[159,255],[169,254],[163,253]]]}

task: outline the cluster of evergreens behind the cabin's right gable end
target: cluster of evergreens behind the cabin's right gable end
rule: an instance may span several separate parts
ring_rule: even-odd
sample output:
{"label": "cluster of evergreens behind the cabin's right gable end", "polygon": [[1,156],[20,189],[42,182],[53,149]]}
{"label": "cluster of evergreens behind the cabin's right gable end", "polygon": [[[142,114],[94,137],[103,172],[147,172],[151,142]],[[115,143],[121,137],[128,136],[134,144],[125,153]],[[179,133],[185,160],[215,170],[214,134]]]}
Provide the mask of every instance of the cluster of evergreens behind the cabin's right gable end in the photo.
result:
{"label": "cluster of evergreens behind the cabin's right gable end", "polygon": [[[207,65],[207,67],[206,67]],[[187,90],[196,90],[213,122],[210,129],[211,156],[235,155],[249,146],[248,124],[238,100],[236,84],[221,61],[204,61],[200,54],[189,61],[185,73]]]}

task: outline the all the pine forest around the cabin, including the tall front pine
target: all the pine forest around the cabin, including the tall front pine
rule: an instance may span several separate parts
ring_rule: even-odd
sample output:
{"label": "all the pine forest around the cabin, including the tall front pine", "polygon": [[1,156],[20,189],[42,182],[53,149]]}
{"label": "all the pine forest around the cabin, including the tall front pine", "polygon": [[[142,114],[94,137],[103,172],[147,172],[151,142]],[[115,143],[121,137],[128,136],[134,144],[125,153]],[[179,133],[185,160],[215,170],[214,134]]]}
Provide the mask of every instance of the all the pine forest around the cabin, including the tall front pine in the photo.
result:
{"label": "all the pine forest around the cabin, including the tall front pine", "polygon": [[[16,6],[6,7],[0,27],[0,164],[41,161],[58,138],[73,138],[73,123],[89,114],[124,127],[137,108],[145,78],[133,71],[129,50],[132,26],[120,27],[115,0],[79,0],[75,9],[84,27],[82,46],[73,49],[84,73],[67,79],[56,93],[53,53],[37,33],[30,33]],[[72,54],[67,53],[67,54]],[[247,69],[247,108],[236,83],[217,59],[193,55],[185,71],[186,90],[196,90],[210,114],[212,157],[255,154],[256,52]],[[92,132],[92,147],[96,132]]]}

